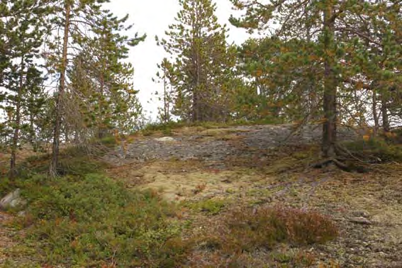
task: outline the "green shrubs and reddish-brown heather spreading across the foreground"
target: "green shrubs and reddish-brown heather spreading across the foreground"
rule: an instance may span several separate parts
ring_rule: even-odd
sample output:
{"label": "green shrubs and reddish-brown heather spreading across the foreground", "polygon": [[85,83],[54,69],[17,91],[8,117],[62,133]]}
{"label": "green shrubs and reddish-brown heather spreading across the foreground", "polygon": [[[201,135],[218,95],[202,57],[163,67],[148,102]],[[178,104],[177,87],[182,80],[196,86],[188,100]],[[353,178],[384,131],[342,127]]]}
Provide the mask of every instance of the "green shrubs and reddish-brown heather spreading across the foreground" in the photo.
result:
{"label": "green shrubs and reddish-brown heather spreading across the foreground", "polygon": [[[195,214],[219,219],[218,225],[199,235],[191,230],[188,218],[178,216],[177,205],[163,201],[156,191],[130,190],[106,177],[105,164],[89,156],[85,147],[62,152],[62,177],[57,179],[45,175],[49,157],[28,158],[16,182],[1,180],[0,184],[1,193],[18,187],[28,201],[26,215],[15,223],[26,230],[26,236],[18,245],[20,250],[10,253],[10,259],[21,255],[31,259],[26,267],[35,267],[32,259],[38,267],[189,267],[189,257],[199,250],[236,256],[237,252],[272,250],[280,243],[324,243],[337,235],[335,225],[316,212],[279,207],[252,211],[233,208],[235,203],[221,199],[184,205]],[[204,189],[199,184],[194,194]],[[186,240],[184,228],[189,228]],[[272,259],[289,265],[295,259],[310,262],[275,251]],[[234,258],[230,267],[242,267],[242,262]],[[224,264],[225,257],[216,267]],[[8,265],[23,267],[11,261]]]}

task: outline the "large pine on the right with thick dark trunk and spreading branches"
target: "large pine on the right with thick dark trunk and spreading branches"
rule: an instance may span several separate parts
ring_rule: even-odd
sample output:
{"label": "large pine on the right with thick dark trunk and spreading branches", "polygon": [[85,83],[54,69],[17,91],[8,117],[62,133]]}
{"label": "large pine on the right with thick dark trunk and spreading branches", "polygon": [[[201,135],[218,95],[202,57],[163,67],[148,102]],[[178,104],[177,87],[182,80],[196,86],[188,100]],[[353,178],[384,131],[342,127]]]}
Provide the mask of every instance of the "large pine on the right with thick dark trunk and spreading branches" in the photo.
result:
{"label": "large pine on the right with thick dark trunk and spreading branches", "polygon": [[[267,4],[260,4],[257,1],[231,0],[237,9],[244,9],[246,13],[242,18],[231,18],[233,25],[250,30],[263,30],[272,36],[282,40],[306,40],[316,43],[315,53],[311,55],[311,62],[316,62],[320,69],[314,69],[316,73],[322,73],[321,82],[323,92],[320,97],[323,99],[323,157],[333,159],[337,154],[336,133],[337,121],[339,119],[340,104],[337,99],[339,90],[342,87],[353,88],[351,78],[359,77],[362,73],[362,66],[367,64],[367,57],[362,57],[362,50],[353,50],[352,40],[366,42],[369,44],[379,43],[384,45],[384,35],[379,40],[373,40],[367,33],[362,32],[362,23],[357,18],[376,18],[384,14],[385,7],[393,6],[392,21],[400,19],[400,4],[392,1],[268,1]],[[279,27],[269,28],[271,23]],[[393,23],[385,26],[381,32],[386,33],[386,28],[391,28]],[[395,45],[392,45],[396,48]],[[289,55],[289,52],[281,52],[280,57],[300,55],[303,52]],[[345,59],[360,57],[362,60],[352,67],[345,64]],[[307,58],[308,59],[308,58]],[[351,62],[351,60],[349,60]],[[393,60],[392,62],[395,63]],[[350,69],[354,73],[350,73]],[[352,80],[353,81],[353,80]],[[320,92],[318,92],[320,93]]]}

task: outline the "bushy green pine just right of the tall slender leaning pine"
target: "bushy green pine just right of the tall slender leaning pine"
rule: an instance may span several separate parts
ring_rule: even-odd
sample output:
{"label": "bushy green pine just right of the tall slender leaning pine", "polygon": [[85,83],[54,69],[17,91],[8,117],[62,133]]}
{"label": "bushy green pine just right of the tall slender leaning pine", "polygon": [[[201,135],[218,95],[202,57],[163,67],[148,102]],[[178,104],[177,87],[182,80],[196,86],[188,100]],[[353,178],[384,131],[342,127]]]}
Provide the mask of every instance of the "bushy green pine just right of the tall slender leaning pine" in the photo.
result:
{"label": "bushy green pine just right of the tall slender leaning pine", "polygon": [[138,91],[133,89],[133,66],[125,59],[129,48],[143,41],[145,35],[121,35],[131,27],[125,26],[127,18],[105,12],[93,28],[94,38],[86,42],[69,71],[69,89],[79,96],[82,116],[78,118],[96,128],[97,138],[104,138],[111,128],[125,133],[133,130],[142,110],[135,96]]}

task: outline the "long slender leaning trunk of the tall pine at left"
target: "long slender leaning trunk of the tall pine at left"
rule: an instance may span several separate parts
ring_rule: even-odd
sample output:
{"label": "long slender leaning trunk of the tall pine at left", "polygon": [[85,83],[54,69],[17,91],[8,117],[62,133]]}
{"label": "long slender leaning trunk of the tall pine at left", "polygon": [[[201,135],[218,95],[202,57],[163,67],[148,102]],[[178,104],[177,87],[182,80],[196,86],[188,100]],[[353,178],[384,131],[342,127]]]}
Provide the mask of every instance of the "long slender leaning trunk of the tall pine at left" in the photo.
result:
{"label": "long slender leaning trunk of the tall pine at left", "polygon": [[69,3],[65,3],[65,31],[63,38],[63,54],[62,54],[62,64],[60,67],[60,85],[59,91],[56,97],[56,120],[55,120],[55,130],[53,135],[53,146],[52,146],[52,162],[50,163],[50,177],[57,176],[57,166],[59,162],[59,150],[60,150],[60,129],[62,124],[62,99],[65,93],[65,82],[66,82],[66,69],[67,69],[67,46],[69,39],[69,19],[70,19],[71,6]]}

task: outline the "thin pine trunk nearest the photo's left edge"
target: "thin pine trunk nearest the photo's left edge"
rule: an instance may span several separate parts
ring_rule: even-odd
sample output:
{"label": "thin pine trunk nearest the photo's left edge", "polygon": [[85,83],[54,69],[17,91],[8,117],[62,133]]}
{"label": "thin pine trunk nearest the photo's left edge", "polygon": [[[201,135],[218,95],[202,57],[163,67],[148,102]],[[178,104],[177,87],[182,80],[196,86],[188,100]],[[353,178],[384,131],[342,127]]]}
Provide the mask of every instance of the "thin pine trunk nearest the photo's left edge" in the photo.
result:
{"label": "thin pine trunk nearest the photo's left edge", "polygon": [[20,81],[18,86],[18,94],[16,96],[16,125],[13,135],[13,145],[11,146],[11,160],[10,160],[10,180],[16,177],[16,158],[17,158],[17,147],[18,147],[18,136],[21,125],[21,98],[23,91],[23,69],[24,67],[24,56],[21,56],[21,71],[20,71]]}

